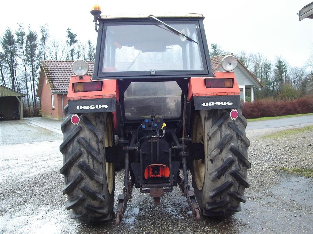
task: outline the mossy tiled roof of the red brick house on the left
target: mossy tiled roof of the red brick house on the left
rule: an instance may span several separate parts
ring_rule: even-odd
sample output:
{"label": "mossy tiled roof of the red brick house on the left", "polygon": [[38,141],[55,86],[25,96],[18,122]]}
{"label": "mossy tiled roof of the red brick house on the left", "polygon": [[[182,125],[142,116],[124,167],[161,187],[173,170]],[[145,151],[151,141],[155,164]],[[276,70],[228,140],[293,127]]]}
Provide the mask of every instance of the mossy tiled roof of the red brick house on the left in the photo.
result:
{"label": "mossy tiled roof of the red brick house on the left", "polygon": [[[47,76],[52,93],[67,93],[69,89],[69,78],[75,76],[72,71],[73,61],[41,61],[39,81],[37,87],[37,97],[41,95],[44,75]],[[94,71],[94,61],[87,61],[89,70],[86,75],[92,75]]]}

